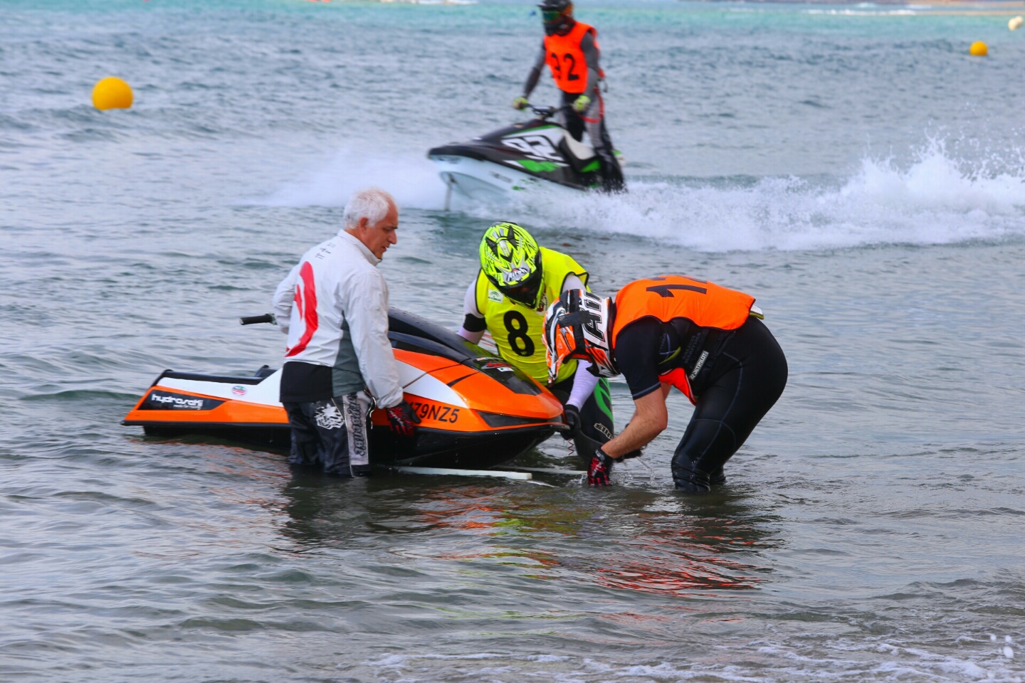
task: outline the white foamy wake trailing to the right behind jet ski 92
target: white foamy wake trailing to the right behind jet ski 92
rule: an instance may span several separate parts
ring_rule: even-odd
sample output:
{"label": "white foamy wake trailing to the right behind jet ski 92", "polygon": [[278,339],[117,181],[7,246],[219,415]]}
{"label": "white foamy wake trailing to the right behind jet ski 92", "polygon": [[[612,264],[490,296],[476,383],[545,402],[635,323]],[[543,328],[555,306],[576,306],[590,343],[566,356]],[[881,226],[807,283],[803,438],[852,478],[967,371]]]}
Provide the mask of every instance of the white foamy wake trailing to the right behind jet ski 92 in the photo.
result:
{"label": "white foamy wake trailing to the right behind jet ski 92", "polygon": [[712,252],[999,241],[1025,237],[1025,171],[987,173],[932,145],[906,167],[863,159],[840,179],[633,180],[624,196],[520,208],[548,228]]}

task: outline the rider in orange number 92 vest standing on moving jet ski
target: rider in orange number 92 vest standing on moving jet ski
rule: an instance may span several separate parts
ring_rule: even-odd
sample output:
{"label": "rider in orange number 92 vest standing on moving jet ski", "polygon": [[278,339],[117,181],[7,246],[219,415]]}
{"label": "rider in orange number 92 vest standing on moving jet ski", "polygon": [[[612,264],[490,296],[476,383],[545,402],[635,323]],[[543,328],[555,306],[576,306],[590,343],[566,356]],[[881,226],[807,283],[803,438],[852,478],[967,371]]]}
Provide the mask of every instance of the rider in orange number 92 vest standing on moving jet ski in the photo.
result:
{"label": "rider in orange number 92 vest standing on moving jet ski", "polygon": [[544,40],[523,86],[523,94],[512,100],[512,106],[522,110],[529,104],[530,93],[547,63],[556,86],[563,91],[566,129],[577,140],[583,136],[584,129],[587,130],[598,155],[602,189],[621,193],[626,189],[623,172],[605,127],[605,102],[599,89],[605,72],[599,66],[598,32],[573,18],[570,0],[544,0],[538,7],[544,22]]}

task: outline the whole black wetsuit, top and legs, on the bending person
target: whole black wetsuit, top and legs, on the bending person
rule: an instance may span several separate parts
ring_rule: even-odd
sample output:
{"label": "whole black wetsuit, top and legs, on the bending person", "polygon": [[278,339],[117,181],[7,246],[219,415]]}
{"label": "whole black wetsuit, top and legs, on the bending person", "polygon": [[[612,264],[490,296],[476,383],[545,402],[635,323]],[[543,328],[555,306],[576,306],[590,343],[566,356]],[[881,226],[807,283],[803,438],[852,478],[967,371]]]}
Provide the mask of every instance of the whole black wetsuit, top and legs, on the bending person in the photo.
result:
{"label": "whole black wetsuit, top and legs, on the bending person", "polygon": [[634,399],[660,390],[659,375],[673,369],[693,377],[694,415],[672,457],[672,478],[683,490],[726,482],[723,465],[786,386],[783,350],[754,316],[733,331],[642,317],[616,336],[615,360]]}

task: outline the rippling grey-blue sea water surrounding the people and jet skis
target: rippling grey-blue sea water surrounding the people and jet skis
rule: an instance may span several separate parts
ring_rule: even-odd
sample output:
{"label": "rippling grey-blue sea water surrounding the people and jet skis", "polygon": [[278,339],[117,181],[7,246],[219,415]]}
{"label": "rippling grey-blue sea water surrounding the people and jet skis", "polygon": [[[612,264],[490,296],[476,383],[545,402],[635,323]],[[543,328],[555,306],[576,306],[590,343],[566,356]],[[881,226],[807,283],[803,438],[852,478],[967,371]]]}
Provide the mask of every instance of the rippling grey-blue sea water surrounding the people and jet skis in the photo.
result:
{"label": "rippling grey-blue sea water surrounding the people and jet skis", "polygon": [[[425,152],[521,116],[529,2],[0,0],[0,679],[1025,679],[1021,7],[576,9],[629,194],[446,213]],[[371,183],[393,304],[449,327],[496,220],[599,292],[757,297],[790,377],[728,485],[673,493],[679,394],[601,490],[120,426],[166,368],[279,364],[237,316]]]}

